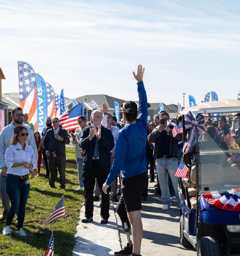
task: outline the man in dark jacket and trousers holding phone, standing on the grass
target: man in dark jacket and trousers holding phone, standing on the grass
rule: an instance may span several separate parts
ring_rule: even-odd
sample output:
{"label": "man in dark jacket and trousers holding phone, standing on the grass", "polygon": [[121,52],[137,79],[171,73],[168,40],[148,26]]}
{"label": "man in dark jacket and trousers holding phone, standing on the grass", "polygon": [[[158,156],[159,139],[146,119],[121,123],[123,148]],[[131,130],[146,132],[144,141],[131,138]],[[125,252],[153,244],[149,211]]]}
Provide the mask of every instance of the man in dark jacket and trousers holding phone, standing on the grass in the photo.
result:
{"label": "man in dark jacket and trousers holding phone, standing on the grass", "polygon": [[66,178],[66,147],[70,143],[68,132],[59,127],[59,119],[52,119],[53,127],[49,129],[43,139],[43,148],[48,158],[49,185],[55,187],[55,169],[59,171],[59,187],[65,189]]}

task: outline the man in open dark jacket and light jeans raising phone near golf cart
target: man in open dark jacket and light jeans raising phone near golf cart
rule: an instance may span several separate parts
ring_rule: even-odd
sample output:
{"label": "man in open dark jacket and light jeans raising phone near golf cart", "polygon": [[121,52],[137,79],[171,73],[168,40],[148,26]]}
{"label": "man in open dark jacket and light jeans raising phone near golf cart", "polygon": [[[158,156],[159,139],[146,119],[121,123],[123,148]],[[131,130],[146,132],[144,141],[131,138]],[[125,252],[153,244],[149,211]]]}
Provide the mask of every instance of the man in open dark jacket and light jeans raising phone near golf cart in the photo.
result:
{"label": "man in open dark jacket and light jeans raising phone near golf cart", "polygon": [[182,141],[182,134],[176,137],[172,135],[173,126],[167,125],[169,114],[166,112],[159,114],[160,125],[149,135],[148,142],[155,143],[153,158],[156,158],[157,177],[162,192],[162,210],[168,210],[172,200],[168,189],[168,174],[174,187],[175,196],[180,203],[178,195],[178,178],[174,176],[178,167],[178,142]]}

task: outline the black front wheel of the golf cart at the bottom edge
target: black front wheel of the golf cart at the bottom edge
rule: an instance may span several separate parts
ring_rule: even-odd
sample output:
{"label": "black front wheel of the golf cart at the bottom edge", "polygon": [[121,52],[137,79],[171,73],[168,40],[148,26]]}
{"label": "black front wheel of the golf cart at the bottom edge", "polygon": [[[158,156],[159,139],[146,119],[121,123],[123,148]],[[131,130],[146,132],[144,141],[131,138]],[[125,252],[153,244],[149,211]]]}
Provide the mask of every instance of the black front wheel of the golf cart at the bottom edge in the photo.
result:
{"label": "black front wheel of the golf cart at the bottom edge", "polygon": [[197,256],[221,256],[221,248],[215,237],[201,237],[197,245]]}

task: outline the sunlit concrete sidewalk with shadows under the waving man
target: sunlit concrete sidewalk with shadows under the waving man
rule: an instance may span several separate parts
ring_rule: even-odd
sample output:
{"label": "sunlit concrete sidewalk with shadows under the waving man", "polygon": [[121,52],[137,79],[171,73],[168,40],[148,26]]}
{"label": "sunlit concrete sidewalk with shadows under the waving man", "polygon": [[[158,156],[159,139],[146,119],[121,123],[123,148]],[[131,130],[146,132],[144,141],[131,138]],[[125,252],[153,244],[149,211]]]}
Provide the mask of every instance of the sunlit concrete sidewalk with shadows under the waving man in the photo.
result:
{"label": "sunlit concrete sidewalk with shadows under the waving man", "polygon": [[[159,196],[154,195],[154,184],[149,183],[148,200],[142,201],[142,256],[196,256],[193,247],[186,249],[180,244],[178,203],[172,203],[169,210],[162,210],[162,202],[157,201]],[[127,245],[127,236],[116,213],[117,203],[110,204],[110,218],[104,225],[100,224],[99,203],[100,201],[94,202],[93,222],[81,222],[85,207],[81,208],[72,256],[114,255],[114,251]]]}

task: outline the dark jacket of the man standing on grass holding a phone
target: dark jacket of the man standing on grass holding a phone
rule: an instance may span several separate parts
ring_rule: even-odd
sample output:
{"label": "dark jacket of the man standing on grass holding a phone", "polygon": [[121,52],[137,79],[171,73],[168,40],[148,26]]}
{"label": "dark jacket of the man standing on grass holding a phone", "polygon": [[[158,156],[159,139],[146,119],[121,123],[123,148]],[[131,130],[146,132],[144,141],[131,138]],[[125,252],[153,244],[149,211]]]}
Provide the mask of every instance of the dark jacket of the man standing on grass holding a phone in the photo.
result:
{"label": "dark jacket of the man standing on grass holding a phone", "polygon": [[63,138],[62,141],[55,139],[53,128],[49,129],[43,139],[43,148],[50,153],[56,152],[57,157],[66,156],[65,144],[70,143],[68,132],[60,128],[58,135]]}

